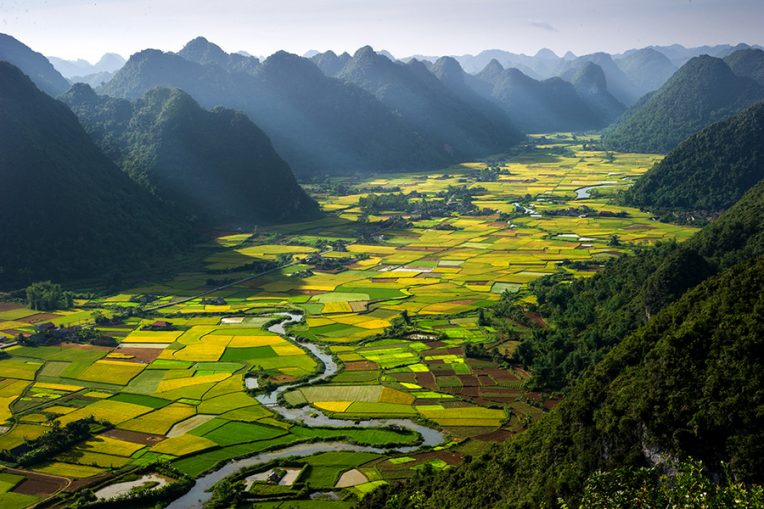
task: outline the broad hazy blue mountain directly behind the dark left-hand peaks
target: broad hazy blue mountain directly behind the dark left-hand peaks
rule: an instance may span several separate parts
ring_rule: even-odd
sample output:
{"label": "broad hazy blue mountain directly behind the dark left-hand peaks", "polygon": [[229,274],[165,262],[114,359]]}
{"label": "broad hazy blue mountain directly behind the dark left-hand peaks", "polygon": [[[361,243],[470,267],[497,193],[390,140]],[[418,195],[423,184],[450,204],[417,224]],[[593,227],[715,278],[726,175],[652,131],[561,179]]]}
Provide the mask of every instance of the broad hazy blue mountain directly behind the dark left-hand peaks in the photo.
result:
{"label": "broad hazy blue mountain directly behind the dark left-hand peaks", "polygon": [[[200,54],[198,48],[194,54]],[[368,92],[283,51],[241,70],[144,50],[98,92],[138,99],[156,86],[179,88],[206,108],[246,113],[303,175],[421,169],[454,161]]]}

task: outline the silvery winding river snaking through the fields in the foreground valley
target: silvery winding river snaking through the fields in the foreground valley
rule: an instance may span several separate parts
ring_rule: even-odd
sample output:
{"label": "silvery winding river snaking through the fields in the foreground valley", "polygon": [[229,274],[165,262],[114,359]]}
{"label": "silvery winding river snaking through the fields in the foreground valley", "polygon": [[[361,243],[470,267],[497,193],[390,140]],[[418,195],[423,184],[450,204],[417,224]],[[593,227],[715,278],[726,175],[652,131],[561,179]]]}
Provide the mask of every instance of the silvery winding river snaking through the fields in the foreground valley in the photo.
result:
{"label": "silvery winding river snaking through the fields in the foreground valley", "polygon": [[279,395],[290,389],[310,385],[320,380],[325,380],[329,377],[332,377],[337,373],[339,367],[337,366],[334,358],[326,349],[313,343],[300,343],[296,341],[292,336],[288,336],[286,334],[285,326],[290,323],[300,321],[302,319],[301,314],[279,313],[279,315],[284,316],[284,320],[271,325],[268,327],[268,330],[287,338],[289,341],[301,348],[309,350],[323,363],[324,369],[321,373],[308,379],[307,381],[282,385],[267,394],[261,394],[257,396],[257,400],[262,405],[267,407],[272,412],[279,414],[284,419],[312,427],[383,428],[387,426],[397,426],[419,433],[419,435],[422,437],[422,444],[417,446],[387,447],[382,449],[379,447],[351,444],[349,442],[331,441],[301,443],[275,451],[262,452],[253,456],[228,462],[219,469],[200,477],[196,480],[196,483],[188,493],[181,496],[180,498],[177,498],[168,506],[169,509],[188,509],[202,507],[204,503],[212,496],[208,490],[211,489],[215,483],[225,477],[228,477],[229,475],[236,473],[244,467],[267,463],[269,461],[281,458],[305,457],[312,456],[313,454],[318,454],[321,452],[331,451],[384,453],[386,451],[394,450],[401,453],[407,453],[415,451],[419,447],[432,447],[438,445],[445,440],[443,433],[440,431],[428,428],[427,426],[418,424],[410,419],[367,419],[363,421],[348,421],[344,419],[334,419],[328,417],[320,410],[308,405],[300,408],[290,408],[281,404],[279,402]]}

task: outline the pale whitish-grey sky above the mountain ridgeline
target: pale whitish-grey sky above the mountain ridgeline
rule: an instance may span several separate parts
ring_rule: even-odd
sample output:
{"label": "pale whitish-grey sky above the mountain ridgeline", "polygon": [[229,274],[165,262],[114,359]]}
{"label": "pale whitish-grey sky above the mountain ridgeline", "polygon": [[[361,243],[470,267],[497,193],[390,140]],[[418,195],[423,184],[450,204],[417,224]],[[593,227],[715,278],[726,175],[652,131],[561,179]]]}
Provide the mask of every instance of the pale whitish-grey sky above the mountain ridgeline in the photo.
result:
{"label": "pale whitish-grey sky above the mountain ridgeline", "polygon": [[90,61],[177,51],[199,35],[258,56],[369,44],[400,58],[764,44],[762,27],[764,0],[0,0],[0,32]]}

